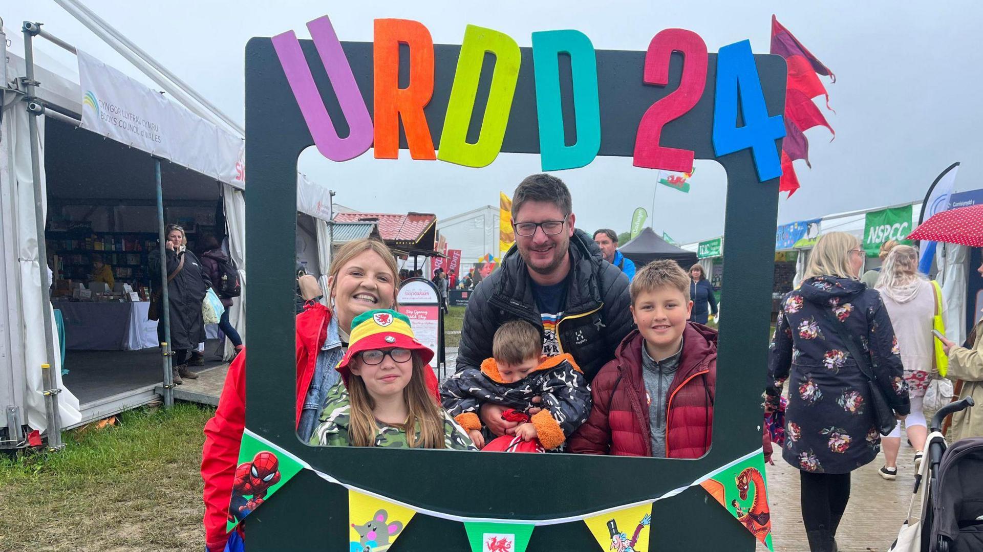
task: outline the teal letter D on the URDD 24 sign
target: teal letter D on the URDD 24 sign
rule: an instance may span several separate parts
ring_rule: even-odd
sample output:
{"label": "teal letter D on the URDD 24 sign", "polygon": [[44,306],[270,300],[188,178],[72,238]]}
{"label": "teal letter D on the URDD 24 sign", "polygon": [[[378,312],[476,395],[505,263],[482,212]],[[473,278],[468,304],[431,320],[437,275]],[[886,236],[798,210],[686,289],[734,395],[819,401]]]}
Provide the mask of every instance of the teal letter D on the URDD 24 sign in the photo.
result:
{"label": "teal letter D on the URDD 24 sign", "polygon": [[[570,56],[577,129],[577,142],[573,145],[566,145],[563,139],[557,61],[560,53]],[[598,61],[594,44],[579,30],[534,32],[533,67],[543,170],[558,171],[589,164],[601,149],[601,105],[598,103]]]}

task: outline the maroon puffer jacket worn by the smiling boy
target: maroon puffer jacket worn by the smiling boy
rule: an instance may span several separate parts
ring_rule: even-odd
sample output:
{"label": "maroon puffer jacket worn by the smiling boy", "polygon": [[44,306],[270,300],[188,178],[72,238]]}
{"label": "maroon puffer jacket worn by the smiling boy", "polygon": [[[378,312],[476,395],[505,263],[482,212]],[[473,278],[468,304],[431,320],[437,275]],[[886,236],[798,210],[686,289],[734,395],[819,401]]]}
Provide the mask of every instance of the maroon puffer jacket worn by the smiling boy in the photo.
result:
{"label": "maroon puffer jacket worn by the smiling boy", "polygon": [[[633,330],[591,382],[594,407],[570,436],[569,452],[652,456],[643,342]],[[666,394],[666,458],[700,458],[710,449],[716,385],[717,331],[686,322],[682,359]]]}

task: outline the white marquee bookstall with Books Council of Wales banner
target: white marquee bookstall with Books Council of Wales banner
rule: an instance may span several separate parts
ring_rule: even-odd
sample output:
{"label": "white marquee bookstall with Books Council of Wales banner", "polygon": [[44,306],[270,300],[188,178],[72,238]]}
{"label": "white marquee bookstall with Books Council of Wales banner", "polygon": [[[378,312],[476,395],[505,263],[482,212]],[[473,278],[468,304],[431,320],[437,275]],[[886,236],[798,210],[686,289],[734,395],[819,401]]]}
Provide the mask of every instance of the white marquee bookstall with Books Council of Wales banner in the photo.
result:
{"label": "white marquee bookstall with Books Council of Wales banner", "polygon": [[[57,375],[48,387],[61,390],[48,394],[57,400],[55,426],[159,397],[157,322],[147,319],[147,299],[151,282],[160,280],[149,270],[148,256],[158,248],[162,222],[182,225],[196,253],[205,234],[224,242],[245,283],[242,138],[85,52],[59,45],[78,54],[79,83],[15,53],[5,56],[5,103],[16,103],[5,110],[3,126],[3,141],[11,146],[2,156],[0,185],[12,198],[4,205],[4,214],[11,214],[4,217],[4,258],[19,258],[14,266],[21,266],[12,271],[7,263],[8,304],[18,308],[4,314],[10,335],[25,348],[23,356],[5,358],[12,375],[0,380],[0,403],[23,409],[21,421],[38,430],[52,425],[42,398],[47,388],[38,377],[44,359]],[[23,44],[17,46],[24,52]],[[29,70],[37,82],[32,89],[19,79]],[[33,148],[29,117],[37,123]],[[41,193],[41,224],[32,216],[32,189]],[[42,294],[38,231],[44,234],[49,294]],[[99,282],[93,282],[93,260],[104,264]],[[42,307],[48,295],[57,316]],[[244,333],[240,300],[231,321]],[[48,323],[59,331],[46,340],[37,329]],[[3,397],[10,389],[18,400]],[[9,433],[18,431],[14,425],[8,423]]]}

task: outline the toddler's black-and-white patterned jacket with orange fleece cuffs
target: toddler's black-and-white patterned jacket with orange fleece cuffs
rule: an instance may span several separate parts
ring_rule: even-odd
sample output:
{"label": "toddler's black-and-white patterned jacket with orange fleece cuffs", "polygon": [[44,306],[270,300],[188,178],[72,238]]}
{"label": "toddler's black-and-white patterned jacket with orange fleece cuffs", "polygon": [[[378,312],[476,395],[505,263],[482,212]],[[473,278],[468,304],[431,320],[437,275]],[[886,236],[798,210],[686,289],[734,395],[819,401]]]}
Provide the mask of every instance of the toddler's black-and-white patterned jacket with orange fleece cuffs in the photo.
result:
{"label": "toddler's black-and-white patterned jacket with orange fleece cuffs", "polygon": [[547,450],[557,450],[591,414],[591,388],[569,354],[549,357],[512,383],[502,381],[494,359],[485,359],[481,369],[463,368],[440,387],[443,408],[468,430],[482,428],[478,412],[485,403],[526,412],[537,406],[534,397],[543,410],[530,421]]}

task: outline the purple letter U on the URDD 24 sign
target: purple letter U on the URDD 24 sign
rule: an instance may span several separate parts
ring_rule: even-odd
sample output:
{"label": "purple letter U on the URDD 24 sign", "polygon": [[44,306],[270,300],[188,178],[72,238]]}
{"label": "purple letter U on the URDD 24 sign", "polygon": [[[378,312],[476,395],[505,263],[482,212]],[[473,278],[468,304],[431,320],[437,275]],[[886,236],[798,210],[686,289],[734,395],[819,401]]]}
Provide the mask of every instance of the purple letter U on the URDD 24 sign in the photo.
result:
{"label": "purple letter U on the URDD 24 sign", "polygon": [[308,29],[348,122],[347,138],[338,138],[294,31],[273,36],[273,48],[320,154],[332,161],[354,159],[372,146],[373,125],[369,108],[355,83],[352,67],[331,27],[331,20],[327,16],[320,17],[308,23]]}

